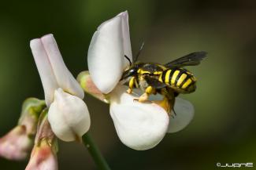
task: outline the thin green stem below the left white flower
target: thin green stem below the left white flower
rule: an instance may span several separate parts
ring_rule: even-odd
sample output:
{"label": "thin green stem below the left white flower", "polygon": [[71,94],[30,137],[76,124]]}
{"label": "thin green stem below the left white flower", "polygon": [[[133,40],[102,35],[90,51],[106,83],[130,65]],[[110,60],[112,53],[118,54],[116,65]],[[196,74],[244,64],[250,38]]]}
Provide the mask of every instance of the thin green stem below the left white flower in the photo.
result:
{"label": "thin green stem below the left white flower", "polygon": [[91,138],[91,135],[87,132],[83,135],[84,146],[87,147],[87,150],[91,154],[91,157],[95,161],[95,164],[100,170],[110,170],[109,165],[107,164],[105,158],[102,156],[101,152],[98,150],[94,140]]}

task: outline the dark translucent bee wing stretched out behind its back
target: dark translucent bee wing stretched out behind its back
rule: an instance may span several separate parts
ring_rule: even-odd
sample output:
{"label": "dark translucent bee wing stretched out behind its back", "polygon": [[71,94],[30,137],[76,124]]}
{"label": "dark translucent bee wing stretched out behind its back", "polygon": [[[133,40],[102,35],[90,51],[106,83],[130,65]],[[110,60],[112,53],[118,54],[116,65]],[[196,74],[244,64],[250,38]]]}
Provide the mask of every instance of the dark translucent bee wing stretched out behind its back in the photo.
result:
{"label": "dark translucent bee wing stretched out behind its back", "polygon": [[182,56],[179,59],[165,63],[165,67],[196,66],[206,57],[206,54],[207,52],[192,52],[187,54],[187,56]]}

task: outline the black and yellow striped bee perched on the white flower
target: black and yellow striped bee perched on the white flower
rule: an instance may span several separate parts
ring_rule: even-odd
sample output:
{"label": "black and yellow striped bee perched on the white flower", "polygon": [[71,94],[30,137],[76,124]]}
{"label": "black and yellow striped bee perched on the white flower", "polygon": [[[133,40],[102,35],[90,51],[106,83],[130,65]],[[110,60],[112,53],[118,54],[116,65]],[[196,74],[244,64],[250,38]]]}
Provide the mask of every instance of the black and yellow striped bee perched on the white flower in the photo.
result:
{"label": "black and yellow striped bee perched on the white flower", "polygon": [[196,78],[184,67],[198,65],[204,57],[206,52],[192,52],[164,65],[130,62],[130,67],[124,71],[121,80],[128,82],[128,93],[131,93],[134,87],[143,90],[143,95],[136,99],[139,102],[147,101],[150,94],[156,93],[174,102],[174,98],[180,93],[195,91]]}

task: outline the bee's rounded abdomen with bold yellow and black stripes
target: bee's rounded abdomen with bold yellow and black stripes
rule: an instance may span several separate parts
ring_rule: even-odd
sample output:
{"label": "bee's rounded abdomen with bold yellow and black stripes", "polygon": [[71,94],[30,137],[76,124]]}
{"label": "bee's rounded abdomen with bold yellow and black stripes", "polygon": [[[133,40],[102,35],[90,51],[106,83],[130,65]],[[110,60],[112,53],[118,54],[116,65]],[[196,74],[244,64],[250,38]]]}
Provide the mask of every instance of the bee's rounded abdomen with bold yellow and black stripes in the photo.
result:
{"label": "bee's rounded abdomen with bold yellow and black stripes", "polygon": [[159,81],[164,82],[179,93],[195,91],[195,77],[184,68],[176,67],[163,71]]}

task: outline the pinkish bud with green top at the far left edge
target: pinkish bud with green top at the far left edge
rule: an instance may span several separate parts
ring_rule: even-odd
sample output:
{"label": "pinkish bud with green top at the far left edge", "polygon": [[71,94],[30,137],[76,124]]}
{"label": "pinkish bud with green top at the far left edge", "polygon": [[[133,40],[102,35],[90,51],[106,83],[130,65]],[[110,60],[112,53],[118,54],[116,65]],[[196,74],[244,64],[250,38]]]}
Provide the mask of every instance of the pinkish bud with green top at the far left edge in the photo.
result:
{"label": "pinkish bud with green top at the far left edge", "polygon": [[45,107],[43,100],[28,98],[22,105],[18,125],[0,139],[0,156],[22,160],[32,150],[39,114]]}

